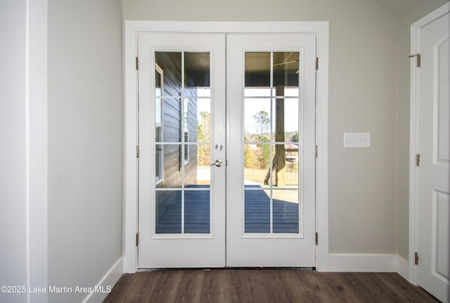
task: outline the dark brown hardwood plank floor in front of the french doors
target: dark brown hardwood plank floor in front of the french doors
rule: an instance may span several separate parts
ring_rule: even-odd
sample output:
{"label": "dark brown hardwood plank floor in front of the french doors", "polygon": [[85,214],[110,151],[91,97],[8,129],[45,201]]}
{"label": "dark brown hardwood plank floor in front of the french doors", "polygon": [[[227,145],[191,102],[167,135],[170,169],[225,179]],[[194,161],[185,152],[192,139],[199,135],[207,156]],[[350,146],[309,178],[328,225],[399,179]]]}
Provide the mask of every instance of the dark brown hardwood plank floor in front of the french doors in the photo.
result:
{"label": "dark brown hardwood plank floor in front of the french doors", "polygon": [[398,273],[214,269],[124,274],[103,302],[439,301]]}

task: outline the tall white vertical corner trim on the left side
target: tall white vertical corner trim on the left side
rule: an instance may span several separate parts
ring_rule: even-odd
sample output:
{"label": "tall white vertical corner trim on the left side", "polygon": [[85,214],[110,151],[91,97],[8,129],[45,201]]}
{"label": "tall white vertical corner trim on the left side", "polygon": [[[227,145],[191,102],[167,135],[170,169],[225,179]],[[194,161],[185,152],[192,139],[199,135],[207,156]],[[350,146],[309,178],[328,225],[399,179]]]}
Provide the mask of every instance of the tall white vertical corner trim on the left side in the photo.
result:
{"label": "tall white vertical corner trim on the left side", "polygon": [[[48,285],[47,0],[27,1],[27,266],[28,285]],[[30,293],[46,302],[47,293]]]}

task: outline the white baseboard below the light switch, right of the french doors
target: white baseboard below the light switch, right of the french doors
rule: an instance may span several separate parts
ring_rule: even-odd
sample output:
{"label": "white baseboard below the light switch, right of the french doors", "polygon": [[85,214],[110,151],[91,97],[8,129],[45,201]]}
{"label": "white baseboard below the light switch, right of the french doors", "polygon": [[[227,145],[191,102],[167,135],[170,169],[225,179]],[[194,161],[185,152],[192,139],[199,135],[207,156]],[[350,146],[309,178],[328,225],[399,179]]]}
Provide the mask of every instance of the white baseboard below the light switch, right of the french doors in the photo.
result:
{"label": "white baseboard below the light switch, right of the french doors", "polygon": [[398,254],[328,254],[319,271],[397,272],[408,280],[408,262]]}

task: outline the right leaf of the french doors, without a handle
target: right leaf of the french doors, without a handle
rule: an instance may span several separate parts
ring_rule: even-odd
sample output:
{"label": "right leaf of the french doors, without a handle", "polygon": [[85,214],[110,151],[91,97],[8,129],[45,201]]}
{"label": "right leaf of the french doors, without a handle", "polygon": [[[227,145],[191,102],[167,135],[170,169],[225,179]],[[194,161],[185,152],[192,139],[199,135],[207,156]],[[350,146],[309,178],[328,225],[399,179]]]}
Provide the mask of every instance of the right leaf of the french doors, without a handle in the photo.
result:
{"label": "right leaf of the french doors, without a handle", "polygon": [[316,266],[316,36],[231,34],[227,56],[227,265]]}

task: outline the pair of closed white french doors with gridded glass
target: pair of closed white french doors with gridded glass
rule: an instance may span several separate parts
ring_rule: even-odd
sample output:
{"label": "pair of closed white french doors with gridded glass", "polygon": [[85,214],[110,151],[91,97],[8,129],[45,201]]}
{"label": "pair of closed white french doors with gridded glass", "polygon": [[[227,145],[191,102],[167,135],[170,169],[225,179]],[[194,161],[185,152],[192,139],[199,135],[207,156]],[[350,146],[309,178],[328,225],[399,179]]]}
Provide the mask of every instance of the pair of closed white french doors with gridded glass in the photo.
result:
{"label": "pair of closed white french doors with gridded glass", "polygon": [[142,33],[138,53],[138,267],[315,266],[315,35]]}

